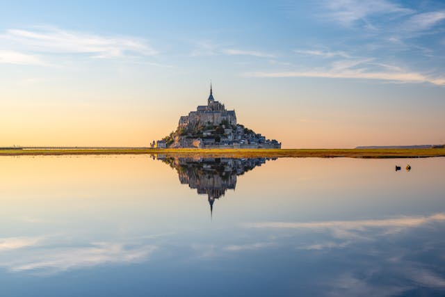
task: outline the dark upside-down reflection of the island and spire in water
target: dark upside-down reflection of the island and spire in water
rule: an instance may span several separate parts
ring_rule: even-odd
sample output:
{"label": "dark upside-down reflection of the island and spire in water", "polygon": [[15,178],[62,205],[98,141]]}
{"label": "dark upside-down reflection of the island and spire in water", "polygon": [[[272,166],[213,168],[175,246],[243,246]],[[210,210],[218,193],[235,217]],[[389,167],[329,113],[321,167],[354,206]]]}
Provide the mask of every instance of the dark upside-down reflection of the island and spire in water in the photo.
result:
{"label": "dark upside-down reflection of the island and spire in water", "polygon": [[235,189],[237,175],[243,175],[244,172],[270,160],[270,158],[184,158],[165,155],[158,155],[156,158],[177,170],[181,184],[196,188],[198,194],[207,194],[210,214],[213,213],[215,199],[223,196],[228,188]]}

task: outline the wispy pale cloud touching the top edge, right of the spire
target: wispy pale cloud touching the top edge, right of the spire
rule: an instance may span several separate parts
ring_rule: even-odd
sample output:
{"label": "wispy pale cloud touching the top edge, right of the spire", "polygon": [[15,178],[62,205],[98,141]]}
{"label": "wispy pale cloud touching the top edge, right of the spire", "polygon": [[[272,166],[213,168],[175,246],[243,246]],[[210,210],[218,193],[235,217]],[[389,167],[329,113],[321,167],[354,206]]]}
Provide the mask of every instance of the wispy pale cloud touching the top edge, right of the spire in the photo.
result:
{"label": "wispy pale cloud touching the top edge, right of the spire", "polygon": [[350,26],[362,20],[366,26],[371,26],[367,18],[373,15],[407,15],[414,13],[413,10],[403,8],[385,0],[359,1],[359,0],[330,0],[325,1],[327,17],[343,26]]}

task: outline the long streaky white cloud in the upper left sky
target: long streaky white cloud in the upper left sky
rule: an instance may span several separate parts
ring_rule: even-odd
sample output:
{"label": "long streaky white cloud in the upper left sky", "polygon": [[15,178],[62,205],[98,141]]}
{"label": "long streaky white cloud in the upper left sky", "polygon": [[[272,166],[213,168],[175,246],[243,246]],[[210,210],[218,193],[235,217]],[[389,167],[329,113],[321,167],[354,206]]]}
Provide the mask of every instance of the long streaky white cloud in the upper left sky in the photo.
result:
{"label": "long streaky white cloud in the upper left sky", "polygon": [[[128,54],[152,56],[157,52],[145,40],[128,36],[105,36],[54,27],[9,29],[0,34],[0,45],[40,54],[86,54],[92,58],[119,58]],[[30,57],[30,60],[33,61]],[[26,56],[17,60],[26,61]]]}

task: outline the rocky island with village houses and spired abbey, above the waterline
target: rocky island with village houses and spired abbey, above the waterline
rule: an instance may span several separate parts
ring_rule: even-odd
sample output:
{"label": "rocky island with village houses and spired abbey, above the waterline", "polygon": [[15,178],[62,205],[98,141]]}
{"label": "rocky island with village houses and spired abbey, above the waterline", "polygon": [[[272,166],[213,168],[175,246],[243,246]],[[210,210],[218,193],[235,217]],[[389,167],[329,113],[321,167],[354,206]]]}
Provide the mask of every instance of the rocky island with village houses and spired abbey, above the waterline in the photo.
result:
{"label": "rocky island with village houses and spired abbey, above the waterline", "polygon": [[281,148],[281,143],[238,124],[235,111],[227,111],[224,104],[216,101],[210,86],[207,105],[181,116],[176,131],[153,141],[152,147]]}

